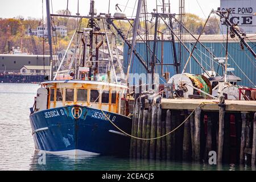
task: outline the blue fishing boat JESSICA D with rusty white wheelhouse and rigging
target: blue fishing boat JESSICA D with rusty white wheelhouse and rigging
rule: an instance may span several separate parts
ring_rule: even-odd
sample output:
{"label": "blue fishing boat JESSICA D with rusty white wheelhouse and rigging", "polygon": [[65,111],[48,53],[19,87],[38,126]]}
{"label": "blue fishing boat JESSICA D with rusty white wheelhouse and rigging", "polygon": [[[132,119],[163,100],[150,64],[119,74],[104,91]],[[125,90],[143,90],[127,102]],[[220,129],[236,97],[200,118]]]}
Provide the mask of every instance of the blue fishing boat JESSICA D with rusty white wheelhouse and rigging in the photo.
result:
{"label": "blue fishing boat JESSICA D with rusty white wheelhouse and rigging", "polygon": [[[49,1],[49,10],[48,3]],[[68,70],[62,74],[60,68],[63,59],[54,78],[42,82],[41,88],[37,91],[30,115],[36,151],[57,155],[129,154],[130,138],[125,133],[131,133],[131,118],[127,117],[121,106],[127,94],[127,83],[115,75],[108,32],[105,25],[104,32],[95,28],[93,22],[96,18],[93,11],[94,1],[91,1],[89,28],[81,31],[78,26],[73,35],[73,38],[76,34],[81,40],[77,43],[75,52],[79,52],[77,47],[84,43],[83,61],[75,64],[81,67],[77,67],[75,72]],[[49,22],[51,20],[48,16],[48,27],[51,26]],[[51,36],[51,28],[48,30],[48,36]],[[106,71],[101,74],[98,64],[99,44],[95,46],[96,50],[93,50],[93,38],[97,35],[105,36],[100,44],[106,42],[108,60],[111,60],[106,64]],[[95,59],[93,52],[96,52]],[[88,67],[93,61],[96,62],[94,67]]]}

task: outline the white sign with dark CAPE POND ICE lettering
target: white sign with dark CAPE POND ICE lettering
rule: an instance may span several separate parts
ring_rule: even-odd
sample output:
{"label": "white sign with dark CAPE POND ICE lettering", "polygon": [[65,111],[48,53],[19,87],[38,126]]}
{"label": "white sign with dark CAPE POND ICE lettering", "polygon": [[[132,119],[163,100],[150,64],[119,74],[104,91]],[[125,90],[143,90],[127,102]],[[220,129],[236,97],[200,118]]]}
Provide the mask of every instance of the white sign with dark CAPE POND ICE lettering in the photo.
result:
{"label": "white sign with dark CAPE POND ICE lettering", "polygon": [[[231,23],[237,23],[246,34],[256,33],[256,1],[255,0],[221,0],[220,10],[231,10],[229,20]],[[226,27],[226,26],[225,26]],[[226,28],[223,27],[223,33],[226,34]]]}

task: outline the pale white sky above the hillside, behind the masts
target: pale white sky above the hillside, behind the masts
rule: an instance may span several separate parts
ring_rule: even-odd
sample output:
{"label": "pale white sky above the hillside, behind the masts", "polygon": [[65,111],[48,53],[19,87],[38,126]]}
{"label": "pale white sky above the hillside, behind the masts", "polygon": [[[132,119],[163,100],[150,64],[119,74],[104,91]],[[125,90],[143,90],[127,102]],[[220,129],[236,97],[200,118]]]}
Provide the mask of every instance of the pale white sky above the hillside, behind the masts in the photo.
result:
{"label": "pale white sky above the hillside, behind the masts", "polygon": [[[14,18],[20,15],[24,18],[42,18],[42,1],[44,2],[44,16],[46,16],[45,0],[0,0],[0,18]],[[67,0],[50,0],[50,4],[51,1],[53,13],[56,13],[57,10],[67,9]],[[69,0],[69,11],[74,15],[77,13],[78,1],[80,15],[88,15],[90,0]],[[152,12],[155,8],[156,1],[159,5],[162,4],[162,0],[147,0],[148,12]],[[137,6],[137,0],[110,0],[110,13],[112,15],[116,12],[115,5],[117,3],[122,10],[125,10],[124,12],[128,17],[133,14],[134,6]],[[170,3],[171,13],[179,13],[179,0],[170,0]],[[108,13],[108,5],[109,0],[95,0],[97,13]],[[201,18],[206,18],[210,10],[217,10],[217,7],[220,7],[220,0],[185,0],[186,13],[197,14]]]}

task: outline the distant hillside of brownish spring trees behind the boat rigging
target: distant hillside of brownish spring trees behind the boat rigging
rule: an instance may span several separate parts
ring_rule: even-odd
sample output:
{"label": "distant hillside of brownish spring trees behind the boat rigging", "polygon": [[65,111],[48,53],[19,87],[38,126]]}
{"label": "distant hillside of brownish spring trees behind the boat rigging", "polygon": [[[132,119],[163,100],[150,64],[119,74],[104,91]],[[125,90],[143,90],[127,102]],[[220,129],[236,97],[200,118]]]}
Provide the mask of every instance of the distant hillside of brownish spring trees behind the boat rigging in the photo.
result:
{"label": "distant hillside of brownish spring trees behind the boat rigging", "polygon": [[[57,14],[64,14],[64,11],[65,10],[59,10],[57,11]],[[67,27],[68,30],[68,36],[62,37],[57,35],[56,37],[53,37],[53,51],[60,51],[68,46],[69,40],[71,40],[71,37],[77,27],[78,21],[79,19],[77,18],[59,18],[56,16],[52,19],[53,27],[62,25]],[[201,19],[195,14],[186,14],[184,24],[193,34],[200,34],[204,22],[204,19]],[[217,22],[218,19],[215,16],[212,16],[208,21],[207,27],[205,27],[204,34],[219,34]],[[0,18],[0,53],[8,53],[12,47],[20,47],[22,52],[27,52],[28,54],[35,54],[35,49],[38,54],[48,54],[47,38],[43,39],[33,36],[35,40],[34,45],[32,43],[32,36],[26,34],[28,28],[36,29],[36,27],[41,26],[42,23],[42,19],[35,19],[31,17],[28,17],[27,19],[24,19],[22,16],[7,19]],[[45,23],[46,19],[44,20],[44,24]],[[131,28],[128,22],[117,20],[115,21],[115,24],[117,24],[119,28],[122,28],[125,34],[128,35],[128,38],[131,36]],[[88,19],[83,19],[81,27],[87,27],[87,25]],[[101,22],[98,22],[98,26],[101,27],[101,25]],[[140,32],[144,32],[143,27],[144,25],[142,22],[141,29],[139,30]],[[154,25],[150,22],[148,23],[148,27],[151,27],[152,30],[154,30]],[[164,24],[161,24],[160,31],[164,32],[164,30],[167,30],[167,27]],[[117,44],[122,45],[121,38],[117,39]]]}

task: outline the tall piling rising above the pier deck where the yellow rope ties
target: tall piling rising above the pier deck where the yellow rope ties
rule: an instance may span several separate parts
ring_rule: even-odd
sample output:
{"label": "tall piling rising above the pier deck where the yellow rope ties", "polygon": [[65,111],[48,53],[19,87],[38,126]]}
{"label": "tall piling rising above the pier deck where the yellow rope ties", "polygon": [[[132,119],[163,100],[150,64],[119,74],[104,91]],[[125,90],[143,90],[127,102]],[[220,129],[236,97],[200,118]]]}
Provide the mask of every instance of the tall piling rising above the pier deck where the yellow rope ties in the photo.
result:
{"label": "tall piling rising above the pier deck where the yellow rope ties", "polygon": [[219,119],[218,119],[218,158],[217,162],[222,162],[223,143],[224,143],[224,118],[225,118],[225,97],[220,97],[219,106]]}

